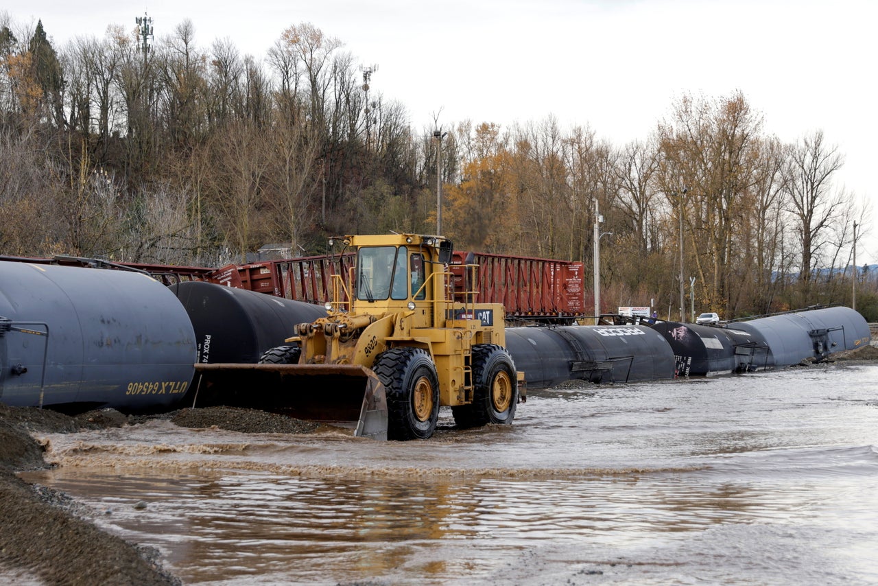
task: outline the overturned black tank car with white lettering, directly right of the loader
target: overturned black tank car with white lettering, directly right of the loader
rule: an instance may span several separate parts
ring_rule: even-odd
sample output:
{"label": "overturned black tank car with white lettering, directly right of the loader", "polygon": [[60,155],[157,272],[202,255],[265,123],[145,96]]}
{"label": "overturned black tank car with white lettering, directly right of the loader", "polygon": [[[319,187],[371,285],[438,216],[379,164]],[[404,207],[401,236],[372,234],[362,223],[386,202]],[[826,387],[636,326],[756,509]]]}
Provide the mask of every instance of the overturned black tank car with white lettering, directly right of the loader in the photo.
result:
{"label": "overturned black tank car with white lettering, directly right of the loader", "polygon": [[671,347],[645,326],[507,328],[506,344],[528,388],[565,380],[633,382],[671,379]]}

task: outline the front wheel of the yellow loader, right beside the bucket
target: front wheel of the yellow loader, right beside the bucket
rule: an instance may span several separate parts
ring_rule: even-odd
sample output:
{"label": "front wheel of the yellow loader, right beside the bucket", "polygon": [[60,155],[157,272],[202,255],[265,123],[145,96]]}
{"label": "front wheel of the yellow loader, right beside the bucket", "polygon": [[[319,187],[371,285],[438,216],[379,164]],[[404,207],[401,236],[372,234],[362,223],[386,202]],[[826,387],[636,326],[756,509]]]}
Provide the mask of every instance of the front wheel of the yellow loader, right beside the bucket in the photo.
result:
{"label": "front wheel of the yellow loader, right beside the bucket", "polygon": [[439,421],[439,377],[421,348],[391,348],[378,354],[372,371],[385,386],[387,438],[426,439]]}

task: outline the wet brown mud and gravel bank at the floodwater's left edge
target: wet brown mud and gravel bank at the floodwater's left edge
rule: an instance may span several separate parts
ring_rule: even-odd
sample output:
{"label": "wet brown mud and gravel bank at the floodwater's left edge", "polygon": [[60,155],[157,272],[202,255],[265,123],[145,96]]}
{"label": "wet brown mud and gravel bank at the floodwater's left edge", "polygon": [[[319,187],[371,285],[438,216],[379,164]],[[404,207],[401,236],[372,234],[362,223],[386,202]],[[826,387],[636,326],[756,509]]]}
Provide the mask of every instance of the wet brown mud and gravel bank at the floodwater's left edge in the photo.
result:
{"label": "wet brown mud and gravel bank at the floodwater's left edge", "polygon": [[0,404],[0,577],[32,584],[181,583],[162,568],[154,548],[104,532],[90,522],[97,511],[16,475],[47,467],[34,435],[121,427],[150,418],[169,419],[180,427],[248,433],[306,433],[317,427],[253,409],[181,409],[150,417],[106,409],[72,417]]}

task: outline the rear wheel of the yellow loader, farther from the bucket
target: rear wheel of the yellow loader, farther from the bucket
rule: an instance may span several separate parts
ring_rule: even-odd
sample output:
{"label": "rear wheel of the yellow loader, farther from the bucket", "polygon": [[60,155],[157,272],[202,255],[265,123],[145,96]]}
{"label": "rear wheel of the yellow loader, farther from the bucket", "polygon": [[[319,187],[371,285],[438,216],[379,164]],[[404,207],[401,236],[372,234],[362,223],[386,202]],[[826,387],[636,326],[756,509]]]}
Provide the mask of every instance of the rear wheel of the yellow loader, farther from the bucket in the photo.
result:
{"label": "rear wheel of the yellow loader, farther from the bucket", "polygon": [[509,352],[496,344],[472,347],[472,402],[451,409],[459,428],[509,424],[518,403],[518,379]]}

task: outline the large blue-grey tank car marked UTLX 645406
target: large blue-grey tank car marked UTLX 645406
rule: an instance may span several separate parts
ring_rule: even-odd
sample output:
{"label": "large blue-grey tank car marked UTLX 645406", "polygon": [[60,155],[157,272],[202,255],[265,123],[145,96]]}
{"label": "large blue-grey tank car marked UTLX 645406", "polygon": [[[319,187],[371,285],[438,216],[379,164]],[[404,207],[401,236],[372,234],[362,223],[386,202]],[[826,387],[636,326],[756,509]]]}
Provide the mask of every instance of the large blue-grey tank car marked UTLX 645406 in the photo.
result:
{"label": "large blue-grey tank car marked UTLX 645406", "polygon": [[160,411],[183,399],[195,332],[140,272],[0,262],[0,401],[70,413]]}

